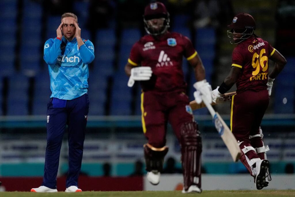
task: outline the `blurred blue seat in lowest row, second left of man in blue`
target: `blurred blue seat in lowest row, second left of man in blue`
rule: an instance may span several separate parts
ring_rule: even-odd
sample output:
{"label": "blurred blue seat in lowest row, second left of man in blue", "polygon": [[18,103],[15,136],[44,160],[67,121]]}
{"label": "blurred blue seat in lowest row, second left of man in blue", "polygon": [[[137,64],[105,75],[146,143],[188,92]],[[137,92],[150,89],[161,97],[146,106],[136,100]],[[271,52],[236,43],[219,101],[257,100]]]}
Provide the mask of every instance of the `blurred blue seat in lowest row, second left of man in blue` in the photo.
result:
{"label": "blurred blue seat in lowest row, second left of man in blue", "polygon": [[14,74],[9,78],[7,115],[28,115],[28,78]]}

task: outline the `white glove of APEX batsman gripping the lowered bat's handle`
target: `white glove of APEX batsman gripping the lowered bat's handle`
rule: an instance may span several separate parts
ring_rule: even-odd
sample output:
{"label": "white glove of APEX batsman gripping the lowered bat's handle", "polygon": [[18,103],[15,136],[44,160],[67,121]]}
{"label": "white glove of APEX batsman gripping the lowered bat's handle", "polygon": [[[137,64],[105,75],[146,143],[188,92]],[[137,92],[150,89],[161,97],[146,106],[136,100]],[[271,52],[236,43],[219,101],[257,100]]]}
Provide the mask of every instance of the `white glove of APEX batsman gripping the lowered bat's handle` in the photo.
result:
{"label": "white glove of APEX batsman gripping the lowered bat's handle", "polygon": [[194,88],[196,88],[196,91],[194,92],[194,97],[198,104],[202,102],[202,96],[209,103],[212,103],[212,97],[211,97],[212,88],[211,88],[211,85],[206,81],[206,79],[194,83]]}

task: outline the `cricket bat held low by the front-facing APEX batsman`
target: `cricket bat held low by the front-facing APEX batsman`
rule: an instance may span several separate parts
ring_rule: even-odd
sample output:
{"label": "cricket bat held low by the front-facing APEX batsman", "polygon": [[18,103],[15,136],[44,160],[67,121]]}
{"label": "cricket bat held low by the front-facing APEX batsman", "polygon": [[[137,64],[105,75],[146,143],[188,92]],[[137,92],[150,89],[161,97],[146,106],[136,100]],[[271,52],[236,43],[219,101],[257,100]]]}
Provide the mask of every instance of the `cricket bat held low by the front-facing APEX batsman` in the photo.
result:
{"label": "cricket bat held low by the front-facing APEX batsman", "polygon": [[212,115],[213,123],[219,133],[219,136],[222,138],[224,144],[227,146],[227,149],[230,151],[234,162],[237,162],[241,156],[241,150],[235,136],[230,131],[230,128],[228,128],[225,124],[219,113],[213,109],[211,104],[204,97],[202,97],[202,100]]}

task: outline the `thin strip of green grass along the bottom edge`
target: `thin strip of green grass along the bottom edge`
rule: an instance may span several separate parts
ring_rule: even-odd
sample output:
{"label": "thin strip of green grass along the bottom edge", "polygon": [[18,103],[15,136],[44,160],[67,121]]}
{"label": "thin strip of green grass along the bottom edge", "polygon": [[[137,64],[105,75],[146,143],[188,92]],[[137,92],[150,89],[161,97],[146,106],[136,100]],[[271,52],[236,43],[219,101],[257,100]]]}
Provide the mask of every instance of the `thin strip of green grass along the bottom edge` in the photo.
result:
{"label": "thin strip of green grass along the bottom edge", "polygon": [[1,197],[31,197],[31,196],[99,196],[99,197],[177,197],[177,196],[202,196],[202,197],[275,197],[275,196],[295,196],[295,190],[262,190],[262,191],[234,191],[234,190],[219,190],[219,191],[203,191],[201,194],[182,194],[180,191],[119,191],[119,192],[96,192],[87,191],[82,193],[31,193],[31,192],[0,192]]}

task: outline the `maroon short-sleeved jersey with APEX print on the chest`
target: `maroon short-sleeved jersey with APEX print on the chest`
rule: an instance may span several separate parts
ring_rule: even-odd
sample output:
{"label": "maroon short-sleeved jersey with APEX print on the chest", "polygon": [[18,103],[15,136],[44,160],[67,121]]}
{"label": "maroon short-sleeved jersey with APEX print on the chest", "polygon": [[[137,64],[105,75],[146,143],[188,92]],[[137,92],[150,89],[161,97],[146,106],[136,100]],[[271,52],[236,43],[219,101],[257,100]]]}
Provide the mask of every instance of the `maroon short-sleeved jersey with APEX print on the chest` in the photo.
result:
{"label": "maroon short-sleeved jersey with APEX print on the chest", "polygon": [[189,38],[167,32],[159,40],[151,35],[142,37],[130,52],[128,62],[133,66],[150,66],[153,75],[149,81],[141,81],[143,91],[186,91],[182,70],[183,56],[191,60],[196,56]]}

